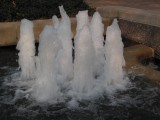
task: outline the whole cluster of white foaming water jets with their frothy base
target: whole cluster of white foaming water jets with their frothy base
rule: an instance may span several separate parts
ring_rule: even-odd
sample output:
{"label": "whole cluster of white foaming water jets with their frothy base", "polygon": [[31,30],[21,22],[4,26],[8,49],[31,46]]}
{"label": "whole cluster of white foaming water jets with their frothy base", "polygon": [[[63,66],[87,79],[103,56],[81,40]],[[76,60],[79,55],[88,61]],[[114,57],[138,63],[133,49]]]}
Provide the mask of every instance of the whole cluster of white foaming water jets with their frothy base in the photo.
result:
{"label": "whole cluster of white foaming water jets with their frothy base", "polygon": [[[53,16],[53,25],[45,26],[40,34],[36,57],[33,23],[28,20],[21,22],[17,45],[20,50],[19,65],[22,76],[34,81],[30,93],[32,97],[38,102],[72,98],[70,105],[77,106],[76,100],[90,99],[100,96],[100,93],[114,93],[115,90],[124,89],[128,80],[125,79],[123,70],[123,43],[117,20],[108,27],[106,44],[103,46],[104,25],[100,14],[96,12],[90,22],[88,11],[80,11],[76,16],[75,46],[72,46],[70,18],[63,6],[59,9],[62,19],[59,21],[57,16]],[[32,37],[26,39],[26,35]],[[27,68],[23,67],[25,65],[28,65]]]}

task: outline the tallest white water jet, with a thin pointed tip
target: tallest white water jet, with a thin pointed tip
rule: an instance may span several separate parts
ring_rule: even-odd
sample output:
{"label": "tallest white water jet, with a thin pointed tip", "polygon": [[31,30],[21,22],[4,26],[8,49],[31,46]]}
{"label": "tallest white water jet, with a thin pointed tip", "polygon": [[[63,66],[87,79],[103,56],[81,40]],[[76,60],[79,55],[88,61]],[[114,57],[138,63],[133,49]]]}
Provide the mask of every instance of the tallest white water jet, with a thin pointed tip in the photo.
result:
{"label": "tallest white water jet, with a thin pointed tip", "polygon": [[57,28],[58,39],[61,41],[61,53],[57,57],[59,61],[58,69],[59,75],[63,82],[66,80],[73,79],[73,61],[72,61],[72,31],[71,31],[71,21],[66,14],[63,6],[59,7],[61,20],[59,27]]}

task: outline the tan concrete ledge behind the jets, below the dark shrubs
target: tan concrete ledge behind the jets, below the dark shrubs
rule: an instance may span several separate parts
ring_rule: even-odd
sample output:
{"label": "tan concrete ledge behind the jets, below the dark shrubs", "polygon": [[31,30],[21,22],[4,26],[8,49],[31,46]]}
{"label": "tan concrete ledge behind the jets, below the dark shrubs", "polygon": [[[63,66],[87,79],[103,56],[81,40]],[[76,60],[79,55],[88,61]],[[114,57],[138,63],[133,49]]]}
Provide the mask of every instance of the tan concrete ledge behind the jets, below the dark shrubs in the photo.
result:
{"label": "tan concrete ledge behind the jets, below the dark shrubs", "polygon": [[[110,19],[103,19],[105,28],[110,24]],[[51,25],[52,20],[34,20],[34,34],[36,42],[39,40],[39,34],[42,32],[45,25]],[[76,33],[77,21],[71,18],[72,32]],[[0,46],[16,45],[19,40],[20,22],[1,22],[0,23]]]}

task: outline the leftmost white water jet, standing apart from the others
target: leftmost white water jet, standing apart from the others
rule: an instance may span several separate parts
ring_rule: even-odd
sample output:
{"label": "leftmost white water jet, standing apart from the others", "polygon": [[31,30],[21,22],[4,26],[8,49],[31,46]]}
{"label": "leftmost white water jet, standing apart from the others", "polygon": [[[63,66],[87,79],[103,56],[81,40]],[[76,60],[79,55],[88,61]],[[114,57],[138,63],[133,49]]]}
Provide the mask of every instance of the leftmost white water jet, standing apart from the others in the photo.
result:
{"label": "leftmost white water jet, standing apart from the others", "polygon": [[16,49],[19,50],[18,63],[22,79],[35,78],[35,43],[33,23],[27,19],[21,20],[20,39]]}

